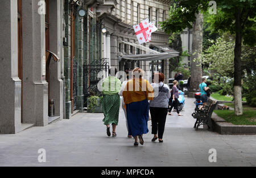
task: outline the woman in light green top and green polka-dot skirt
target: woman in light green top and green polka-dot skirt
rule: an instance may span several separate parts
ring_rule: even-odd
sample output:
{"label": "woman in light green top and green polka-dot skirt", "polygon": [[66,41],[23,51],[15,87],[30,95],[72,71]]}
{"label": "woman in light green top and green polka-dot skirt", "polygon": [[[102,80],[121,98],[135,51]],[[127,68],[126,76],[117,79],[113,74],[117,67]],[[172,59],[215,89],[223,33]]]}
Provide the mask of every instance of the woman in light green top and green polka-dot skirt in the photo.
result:
{"label": "woman in light green top and green polka-dot skirt", "polygon": [[[115,71],[114,71],[115,70]],[[103,119],[104,125],[107,126],[107,135],[111,136],[110,124],[113,127],[113,135],[117,136],[115,129],[118,125],[119,119],[119,108],[120,108],[120,97],[119,91],[121,90],[122,83],[118,78],[115,77],[117,69],[110,69],[110,77],[105,78],[102,83],[102,109],[105,118]]]}

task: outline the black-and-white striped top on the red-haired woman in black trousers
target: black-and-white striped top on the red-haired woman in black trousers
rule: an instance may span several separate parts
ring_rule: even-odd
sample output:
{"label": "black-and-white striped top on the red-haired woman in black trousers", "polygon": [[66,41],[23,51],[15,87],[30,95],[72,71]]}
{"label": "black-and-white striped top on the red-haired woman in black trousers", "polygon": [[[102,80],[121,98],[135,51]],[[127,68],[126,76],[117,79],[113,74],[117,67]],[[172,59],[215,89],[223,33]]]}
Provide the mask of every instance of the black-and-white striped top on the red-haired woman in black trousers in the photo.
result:
{"label": "black-and-white striped top on the red-haired woman in black trousers", "polygon": [[150,107],[168,108],[169,99],[171,98],[171,92],[170,92],[169,86],[166,84],[163,84],[163,82],[159,82],[159,84],[152,84],[152,87],[154,88],[154,91],[155,91],[154,92],[155,97],[153,101],[150,101]]}

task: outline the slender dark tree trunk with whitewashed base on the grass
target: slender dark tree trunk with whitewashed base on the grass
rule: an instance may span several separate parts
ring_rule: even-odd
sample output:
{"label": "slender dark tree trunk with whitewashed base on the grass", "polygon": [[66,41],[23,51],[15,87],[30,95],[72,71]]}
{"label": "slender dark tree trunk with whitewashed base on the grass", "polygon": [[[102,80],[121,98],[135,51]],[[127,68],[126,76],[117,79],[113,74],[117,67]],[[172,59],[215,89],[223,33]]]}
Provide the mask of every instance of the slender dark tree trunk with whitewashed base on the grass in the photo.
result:
{"label": "slender dark tree trunk with whitewashed base on the grass", "polygon": [[236,16],[236,47],[234,49],[234,113],[242,115],[241,93],[241,51],[242,51],[242,23],[241,9],[237,9]]}

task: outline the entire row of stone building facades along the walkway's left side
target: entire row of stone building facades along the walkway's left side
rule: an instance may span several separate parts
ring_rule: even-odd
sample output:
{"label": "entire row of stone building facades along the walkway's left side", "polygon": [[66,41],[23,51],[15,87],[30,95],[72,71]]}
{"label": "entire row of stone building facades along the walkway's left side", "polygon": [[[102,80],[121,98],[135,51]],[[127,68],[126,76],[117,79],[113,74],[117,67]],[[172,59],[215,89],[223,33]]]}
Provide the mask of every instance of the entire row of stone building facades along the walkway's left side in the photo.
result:
{"label": "entire row of stone building facades along the walkway's left side", "polygon": [[[1,2],[0,134],[47,126],[83,111],[102,69],[105,76],[109,67],[118,71],[141,67],[169,76],[170,59],[120,58],[147,53],[129,45],[137,43],[133,24],[150,18],[158,26],[167,18],[169,5],[170,1],[160,0]],[[86,13],[81,15],[80,10]],[[168,35],[155,32],[144,47],[161,51],[168,47]],[[54,117],[49,107],[53,101]]]}

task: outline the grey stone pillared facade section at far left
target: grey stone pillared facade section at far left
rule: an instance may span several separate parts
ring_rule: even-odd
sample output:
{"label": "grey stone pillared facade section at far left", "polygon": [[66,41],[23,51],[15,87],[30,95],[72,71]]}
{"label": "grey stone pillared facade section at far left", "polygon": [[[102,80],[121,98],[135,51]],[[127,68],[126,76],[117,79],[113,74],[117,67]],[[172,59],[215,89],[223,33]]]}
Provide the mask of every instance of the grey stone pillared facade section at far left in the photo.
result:
{"label": "grey stone pillared facade section at far left", "polygon": [[[48,125],[50,98],[55,98],[55,114],[63,118],[61,7],[61,0],[1,2],[1,134]],[[49,55],[57,57],[49,61]]]}

